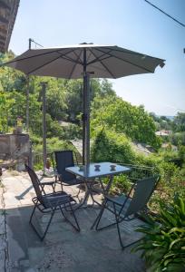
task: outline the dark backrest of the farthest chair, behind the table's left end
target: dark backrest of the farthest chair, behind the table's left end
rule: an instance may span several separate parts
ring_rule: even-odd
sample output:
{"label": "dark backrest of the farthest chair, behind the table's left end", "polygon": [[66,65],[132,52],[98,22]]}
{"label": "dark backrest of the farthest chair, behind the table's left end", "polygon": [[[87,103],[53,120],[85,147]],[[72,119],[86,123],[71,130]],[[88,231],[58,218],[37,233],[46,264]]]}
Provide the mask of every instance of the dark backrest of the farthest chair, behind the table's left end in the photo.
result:
{"label": "dark backrest of the farthest chair, behind the table's left end", "polygon": [[54,151],[56,170],[63,182],[75,179],[75,175],[65,170],[66,167],[74,166],[73,151]]}

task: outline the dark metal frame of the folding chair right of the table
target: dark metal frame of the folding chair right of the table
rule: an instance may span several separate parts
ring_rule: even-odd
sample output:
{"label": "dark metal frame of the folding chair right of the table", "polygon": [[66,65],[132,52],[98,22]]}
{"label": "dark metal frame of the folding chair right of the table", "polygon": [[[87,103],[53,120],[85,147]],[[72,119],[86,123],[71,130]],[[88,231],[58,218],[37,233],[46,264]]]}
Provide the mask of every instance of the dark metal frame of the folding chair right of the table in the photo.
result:
{"label": "dark metal frame of the folding chair right of the table", "polygon": [[[142,208],[137,210],[136,212],[131,212],[131,214],[128,214],[127,210],[129,209],[129,207],[131,207],[131,201],[134,199],[134,194],[133,194],[133,197],[131,198],[132,191],[135,190],[135,192],[136,192],[138,182],[143,182],[143,181],[151,180],[151,179],[153,179],[155,181],[154,181],[153,186],[151,186],[151,193],[148,196],[146,196],[146,199],[144,201],[144,204],[142,205]],[[154,189],[156,189],[159,180],[160,180],[160,176],[154,176],[154,177],[138,180],[136,183],[134,183],[132,185],[128,195],[123,199],[122,204],[120,202],[116,201],[116,198],[106,196],[102,202],[102,209],[100,210],[100,213],[98,214],[98,216],[96,217],[96,219],[93,222],[92,229],[94,228],[94,226],[95,226],[96,230],[102,230],[104,228],[109,228],[109,227],[116,225],[118,237],[119,237],[119,241],[120,241],[120,245],[121,245],[122,249],[128,248],[131,245],[137,243],[139,240],[141,240],[141,238],[136,241],[131,242],[130,244],[123,245],[122,236],[121,236],[121,229],[120,229],[119,224],[122,223],[122,221],[131,221],[133,219],[141,218],[141,212],[144,212],[145,214],[149,212],[149,209],[147,209],[147,203],[151,199],[151,195],[152,195]],[[108,202],[112,203],[112,208],[109,208],[109,206],[107,205]],[[130,202],[129,203],[130,205],[126,209],[126,211],[124,211],[124,208],[126,208],[126,205],[128,204],[128,202]],[[118,207],[118,206],[120,207],[119,211],[116,209],[116,207]],[[100,228],[99,224],[101,222],[104,209],[108,209],[109,211],[112,212],[112,214],[114,214],[115,221],[111,224],[108,224],[108,225]]]}

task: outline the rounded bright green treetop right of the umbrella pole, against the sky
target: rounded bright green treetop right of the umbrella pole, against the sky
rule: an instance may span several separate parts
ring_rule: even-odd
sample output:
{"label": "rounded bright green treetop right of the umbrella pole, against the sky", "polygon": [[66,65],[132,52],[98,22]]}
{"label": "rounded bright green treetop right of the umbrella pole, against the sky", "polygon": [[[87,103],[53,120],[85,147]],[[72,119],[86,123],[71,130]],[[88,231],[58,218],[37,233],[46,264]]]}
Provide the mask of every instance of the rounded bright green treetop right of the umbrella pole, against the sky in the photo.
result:
{"label": "rounded bright green treetop right of the umbrella pole, against the sky", "polygon": [[160,147],[154,121],[142,106],[131,106],[131,103],[116,98],[109,104],[105,103],[105,107],[102,105],[101,109],[93,112],[93,130],[100,125],[106,126],[118,133],[125,133],[132,141],[148,143],[155,149]]}

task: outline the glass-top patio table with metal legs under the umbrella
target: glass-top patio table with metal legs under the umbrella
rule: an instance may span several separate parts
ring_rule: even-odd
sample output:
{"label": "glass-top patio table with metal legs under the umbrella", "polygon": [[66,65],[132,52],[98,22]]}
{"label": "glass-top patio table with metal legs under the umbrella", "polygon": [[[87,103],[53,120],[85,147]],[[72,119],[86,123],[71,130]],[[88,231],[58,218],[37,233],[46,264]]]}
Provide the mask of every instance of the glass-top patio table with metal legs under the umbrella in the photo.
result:
{"label": "glass-top patio table with metal legs under the umbrella", "polygon": [[[84,203],[86,203],[89,196],[91,196],[91,198],[93,199],[93,191],[101,192],[103,196],[107,195],[109,189],[112,186],[113,176],[128,172],[131,169],[112,162],[100,162],[90,163],[89,165],[86,166],[81,165],[67,167],[65,170],[73,173],[76,176],[81,177],[81,179],[83,179],[85,182],[86,191],[83,203],[80,205],[82,206]],[[109,179],[106,184],[103,184],[102,182],[103,177],[107,177]],[[100,184],[100,189],[93,188],[97,179]],[[93,199],[93,202],[101,205],[95,199]]]}

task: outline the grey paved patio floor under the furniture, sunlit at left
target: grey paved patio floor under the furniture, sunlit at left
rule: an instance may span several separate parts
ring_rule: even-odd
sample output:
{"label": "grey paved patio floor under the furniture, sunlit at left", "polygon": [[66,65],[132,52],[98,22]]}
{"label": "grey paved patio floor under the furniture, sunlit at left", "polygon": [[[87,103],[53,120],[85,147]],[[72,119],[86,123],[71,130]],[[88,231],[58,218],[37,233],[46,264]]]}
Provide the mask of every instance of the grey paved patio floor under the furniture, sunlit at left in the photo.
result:
{"label": "grey paved patio floor under the furniture, sunlit at left", "polygon": [[[44,242],[41,242],[28,223],[33,209],[31,199],[34,189],[27,173],[5,171],[2,183],[0,209],[5,212],[0,213],[0,271],[145,271],[139,253],[131,253],[131,248],[122,251],[116,228],[102,231],[90,229],[99,209],[76,211],[80,233],[73,230],[61,213],[56,213]],[[66,191],[69,190],[73,194],[76,188],[72,191],[68,187]],[[48,216],[37,214],[37,217],[41,220],[40,228],[44,228]],[[104,220],[111,220],[108,212]],[[133,220],[122,225],[125,243],[137,239],[139,234],[134,232],[134,228],[138,224],[141,221]]]}

